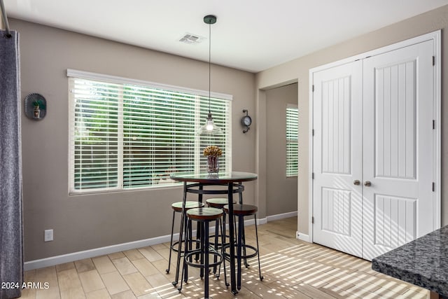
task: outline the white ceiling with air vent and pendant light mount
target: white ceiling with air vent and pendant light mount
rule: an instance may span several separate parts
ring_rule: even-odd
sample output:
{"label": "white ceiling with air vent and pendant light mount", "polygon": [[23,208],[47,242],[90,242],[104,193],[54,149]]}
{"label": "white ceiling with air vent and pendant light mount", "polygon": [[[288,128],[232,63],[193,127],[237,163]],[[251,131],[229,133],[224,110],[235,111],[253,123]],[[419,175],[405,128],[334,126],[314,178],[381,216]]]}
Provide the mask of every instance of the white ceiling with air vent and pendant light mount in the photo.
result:
{"label": "white ceiling with air vent and pendant light mount", "polygon": [[[448,0],[4,0],[8,18],[258,72]],[[14,29],[14,28],[10,28]],[[202,43],[179,42],[186,33]]]}

